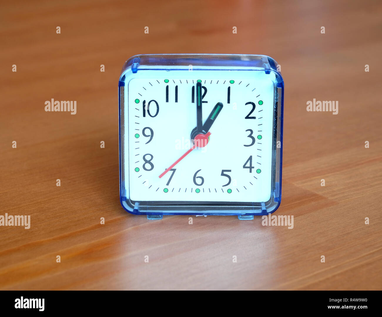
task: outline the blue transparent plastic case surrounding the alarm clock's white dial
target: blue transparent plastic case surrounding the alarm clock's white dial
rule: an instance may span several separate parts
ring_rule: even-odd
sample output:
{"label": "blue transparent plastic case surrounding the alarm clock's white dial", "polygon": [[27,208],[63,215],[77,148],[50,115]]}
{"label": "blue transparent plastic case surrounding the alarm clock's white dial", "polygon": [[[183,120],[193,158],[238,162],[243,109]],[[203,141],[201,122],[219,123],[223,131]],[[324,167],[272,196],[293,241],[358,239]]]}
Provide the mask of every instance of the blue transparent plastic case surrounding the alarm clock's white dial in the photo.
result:
{"label": "blue transparent plastic case surrounding the alarm clock's white dial", "polygon": [[[271,140],[272,172],[270,181],[270,199],[268,201],[218,202],[218,201],[134,201],[130,197],[129,188],[129,134],[135,133],[129,129],[127,116],[129,105],[125,100],[128,94],[130,80],[138,76],[150,74],[155,78],[155,72],[167,71],[167,77],[172,73],[184,71],[188,76],[192,67],[193,75],[203,77],[206,71],[247,71],[248,76],[258,77],[269,75],[274,83],[273,103],[273,135]],[[216,72],[215,72],[216,73]],[[262,73],[262,74],[261,74]],[[154,76],[153,76],[154,74]],[[282,136],[283,136],[283,95],[284,82],[277,70],[275,60],[265,55],[230,55],[230,54],[152,54],[135,55],[123,65],[118,84],[119,100],[119,161],[120,161],[120,202],[123,208],[132,214],[147,215],[148,219],[161,219],[163,215],[237,215],[239,219],[253,219],[255,215],[274,212],[281,201],[282,175]],[[190,105],[191,106],[191,105]],[[163,126],[166,123],[163,122]],[[271,128],[270,128],[271,129]],[[272,131],[271,131],[272,133]],[[158,141],[157,141],[158,142]],[[134,162],[132,162],[134,163]],[[191,194],[191,193],[190,193]],[[163,193],[163,195],[166,195]],[[250,199],[249,199],[250,200]]]}

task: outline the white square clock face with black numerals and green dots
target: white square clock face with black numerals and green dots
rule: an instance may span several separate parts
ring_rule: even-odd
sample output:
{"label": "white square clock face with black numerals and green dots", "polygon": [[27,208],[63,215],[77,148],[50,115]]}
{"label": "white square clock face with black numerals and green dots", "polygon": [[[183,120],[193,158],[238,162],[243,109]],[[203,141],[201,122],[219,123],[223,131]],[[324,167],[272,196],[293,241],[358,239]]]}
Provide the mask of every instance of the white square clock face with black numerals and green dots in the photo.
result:
{"label": "white square clock face with black numerals and green dots", "polygon": [[[125,87],[125,179],[133,202],[248,205],[270,200],[272,72],[138,73]],[[194,129],[202,132],[191,136]],[[195,134],[204,140],[199,146]],[[207,141],[201,136],[206,134]]]}

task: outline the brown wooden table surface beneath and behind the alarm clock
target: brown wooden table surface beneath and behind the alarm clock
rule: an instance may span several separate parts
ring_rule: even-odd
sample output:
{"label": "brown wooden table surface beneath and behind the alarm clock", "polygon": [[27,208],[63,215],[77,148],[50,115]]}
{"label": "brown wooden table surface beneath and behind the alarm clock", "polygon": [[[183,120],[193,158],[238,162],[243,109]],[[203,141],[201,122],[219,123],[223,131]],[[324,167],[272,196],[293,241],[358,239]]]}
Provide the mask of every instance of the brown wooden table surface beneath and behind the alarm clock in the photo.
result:
{"label": "brown wooden table surface beneath and behind the alarm clock", "polygon": [[[381,26],[380,1],[2,3],[0,215],[30,215],[31,227],[0,227],[0,289],[382,289]],[[277,60],[275,214],[293,215],[293,229],[122,209],[117,83],[142,53]],[[76,100],[77,113],[45,112],[51,98]],[[338,114],[306,111],[313,98],[338,101]]]}

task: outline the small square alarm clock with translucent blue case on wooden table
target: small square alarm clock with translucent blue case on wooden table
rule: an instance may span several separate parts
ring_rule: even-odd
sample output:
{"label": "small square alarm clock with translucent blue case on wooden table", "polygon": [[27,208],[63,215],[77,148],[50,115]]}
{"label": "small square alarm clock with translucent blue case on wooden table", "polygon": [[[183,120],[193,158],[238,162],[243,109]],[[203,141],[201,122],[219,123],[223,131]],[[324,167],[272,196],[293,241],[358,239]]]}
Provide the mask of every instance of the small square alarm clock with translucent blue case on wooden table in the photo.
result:
{"label": "small square alarm clock with translucent blue case on wooden table", "polygon": [[123,208],[149,219],[274,212],[283,94],[264,55],[131,57],[118,90]]}

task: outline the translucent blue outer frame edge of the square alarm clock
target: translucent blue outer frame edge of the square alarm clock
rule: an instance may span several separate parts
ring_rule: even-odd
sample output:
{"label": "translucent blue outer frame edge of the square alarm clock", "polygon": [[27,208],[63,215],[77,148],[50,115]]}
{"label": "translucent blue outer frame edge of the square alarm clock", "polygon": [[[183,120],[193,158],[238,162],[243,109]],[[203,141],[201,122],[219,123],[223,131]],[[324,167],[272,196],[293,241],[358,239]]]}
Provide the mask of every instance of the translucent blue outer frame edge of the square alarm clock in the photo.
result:
{"label": "translucent blue outer frame edge of the square alarm clock", "polygon": [[[155,68],[155,69],[167,69],[166,66],[176,66],[176,62],[184,63],[184,66],[182,68],[181,65],[179,65],[179,69],[184,69],[184,67],[188,64],[190,61],[197,60],[199,62],[199,65],[206,61],[207,66],[210,66],[211,69],[219,69],[219,66],[227,66],[227,60],[221,60],[222,57],[225,58],[231,58],[229,60],[230,65],[232,69],[239,69],[240,67],[245,66],[253,67],[253,68],[259,68],[262,67],[262,69],[253,69],[253,70],[261,70],[264,71],[266,74],[269,74],[270,72],[274,72],[276,75],[277,80],[277,89],[280,89],[281,92],[281,105],[277,105],[277,111],[280,109],[280,121],[278,122],[279,127],[276,131],[276,133],[280,133],[280,151],[279,151],[279,165],[275,166],[275,173],[279,174],[278,182],[275,182],[275,188],[273,190],[273,195],[277,192],[277,196],[274,196],[274,202],[277,202],[277,205],[274,206],[272,210],[268,209],[262,209],[261,212],[240,212],[237,211],[231,211],[231,212],[219,212],[219,210],[214,209],[208,209],[209,212],[203,212],[203,211],[188,211],[185,210],[185,212],[176,212],[176,211],[169,211],[169,212],[150,212],[150,211],[139,211],[136,207],[138,206],[129,206],[126,202],[128,201],[127,195],[123,195],[123,189],[125,189],[125,182],[122,180],[122,171],[121,171],[121,159],[122,159],[122,153],[121,153],[121,92],[120,88],[125,86],[125,77],[126,72],[131,71],[132,74],[135,74],[138,72],[139,69],[151,69],[151,68],[145,68],[147,67],[147,64],[155,64],[158,63],[163,66],[163,68]],[[244,57],[244,60],[242,59]],[[253,60],[248,61],[248,57],[254,58]],[[176,61],[174,59],[177,58]],[[207,60],[206,60],[207,58]],[[146,61],[146,63],[141,64],[142,59]],[[266,62],[264,62],[266,59]],[[149,61],[150,60],[150,61]],[[248,65],[252,62],[251,65]],[[212,64],[211,64],[212,63]],[[140,67],[141,66],[141,67]],[[143,66],[143,67],[142,67]],[[205,65],[203,65],[205,66]],[[238,219],[240,220],[252,220],[254,219],[254,216],[263,216],[267,214],[272,214],[275,212],[281,203],[281,194],[282,194],[282,153],[283,153],[283,113],[284,113],[284,81],[283,78],[277,70],[278,64],[276,61],[266,55],[242,55],[242,54],[151,54],[151,55],[134,55],[131,58],[129,58],[121,71],[120,79],[118,81],[118,130],[119,130],[119,171],[120,171],[120,203],[123,209],[125,211],[135,214],[135,215],[147,215],[147,219],[156,220],[156,219],[162,219],[163,216],[167,215],[190,215],[190,216],[238,216]],[[236,68],[238,67],[238,68]],[[194,68],[197,69],[197,68]],[[205,70],[206,68],[204,68]],[[279,101],[280,99],[278,99]],[[279,107],[280,106],[280,107]],[[277,113],[277,116],[279,116],[279,113]],[[273,175],[272,175],[273,177]],[[272,195],[271,195],[272,200]],[[262,203],[264,204],[264,203]],[[195,208],[200,208],[198,206],[194,206]],[[232,208],[235,208],[235,206],[230,206]],[[240,206],[238,206],[240,207]],[[238,208],[236,207],[236,208]],[[265,204],[264,204],[265,207]]]}

